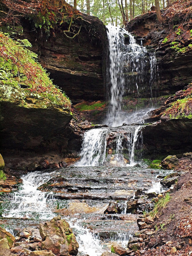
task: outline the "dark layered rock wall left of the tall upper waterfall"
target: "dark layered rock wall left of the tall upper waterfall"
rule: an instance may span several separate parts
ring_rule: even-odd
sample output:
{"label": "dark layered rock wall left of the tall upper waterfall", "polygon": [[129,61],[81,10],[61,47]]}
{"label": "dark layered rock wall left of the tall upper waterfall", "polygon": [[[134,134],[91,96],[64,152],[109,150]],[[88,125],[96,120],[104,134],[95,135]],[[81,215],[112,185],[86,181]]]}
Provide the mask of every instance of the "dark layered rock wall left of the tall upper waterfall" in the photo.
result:
{"label": "dark layered rock wall left of the tall upper waterfall", "polygon": [[[67,17],[67,22],[70,18]],[[79,26],[79,19],[74,24]],[[54,37],[46,39],[40,30],[29,32],[31,24],[23,30],[38,53],[40,64],[50,72],[50,78],[65,91],[72,103],[81,100],[104,100],[106,73],[106,27],[96,17],[84,16],[80,33],[74,39],[61,30],[54,30]]]}

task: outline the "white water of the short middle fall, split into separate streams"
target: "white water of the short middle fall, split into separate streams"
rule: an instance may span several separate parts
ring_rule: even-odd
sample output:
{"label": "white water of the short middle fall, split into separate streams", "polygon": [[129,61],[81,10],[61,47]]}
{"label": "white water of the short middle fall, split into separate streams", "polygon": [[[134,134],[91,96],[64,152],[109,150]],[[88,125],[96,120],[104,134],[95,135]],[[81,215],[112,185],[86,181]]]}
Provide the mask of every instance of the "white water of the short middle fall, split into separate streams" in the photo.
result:
{"label": "white water of the short middle fall, split into separate streams", "polygon": [[[131,130],[130,127],[127,129],[127,145],[125,145],[125,147],[129,150],[127,155],[130,158],[130,163],[127,166],[134,166],[136,164],[135,149],[137,148],[141,128],[142,126],[139,125],[131,126]],[[102,166],[104,164],[108,164],[108,162],[105,160],[107,152],[107,140],[111,133],[116,134],[116,131],[113,132],[110,128],[90,129],[86,131],[80,151],[81,158],[77,163],[74,164],[74,166]],[[118,161],[118,166],[126,166],[122,145],[123,137],[125,141],[125,135],[118,135],[117,133],[116,136],[114,160]]]}

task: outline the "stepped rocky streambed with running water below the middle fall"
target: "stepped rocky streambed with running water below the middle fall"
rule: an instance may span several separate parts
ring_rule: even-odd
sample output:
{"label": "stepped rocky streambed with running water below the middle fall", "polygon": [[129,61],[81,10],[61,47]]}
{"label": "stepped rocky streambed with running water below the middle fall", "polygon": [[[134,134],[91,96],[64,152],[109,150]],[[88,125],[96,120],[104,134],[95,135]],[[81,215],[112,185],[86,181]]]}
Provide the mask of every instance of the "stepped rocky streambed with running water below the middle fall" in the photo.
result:
{"label": "stepped rocky streambed with running water below the middle fall", "polygon": [[[69,222],[70,232],[73,231],[79,243],[79,255],[100,256],[104,251],[111,251],[112,244],[125,248],[129,241],[133,245],[127,247],[126,255],[135,255],[134,243],[142,244],[143,238],[135,241],[132,237],[139,229],[152,228],[144,222],[143,213],[153,209],[158,194],[162,197],[162,191],[170,186],[174,189],[172,185],[181,172],[178,170],[174,175],[172,172],[130,166],[66,167],[30,172],[21,176],[17,191],[1,193],[0,225],[18,236],[14,247],[22,249],[19,247],[21,250],[16,255],[52,255],[34,252],[49,251],[50,247],[41,243],[42,236],[35,241],[31,234],[41,230],[40,222],[43,225],[58,215]],[[29,239],[21,234],[26,228]],[[24,247],[27,250],[23,251]],[[68,251],[60,255],[68,255]],[[70,255],[76,254],[70,252]]]}

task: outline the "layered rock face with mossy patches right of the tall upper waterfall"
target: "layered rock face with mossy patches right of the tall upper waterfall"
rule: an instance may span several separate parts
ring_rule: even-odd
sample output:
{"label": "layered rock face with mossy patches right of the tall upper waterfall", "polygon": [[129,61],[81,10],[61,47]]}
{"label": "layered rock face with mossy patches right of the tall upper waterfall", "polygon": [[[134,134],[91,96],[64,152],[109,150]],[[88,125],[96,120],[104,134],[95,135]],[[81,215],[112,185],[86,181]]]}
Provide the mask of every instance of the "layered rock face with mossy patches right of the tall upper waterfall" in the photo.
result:
{"label": "layered rock face with mossy patches right of the tall upper waterfall", "polygon": [[[187,3],[177,14],[178,2],[162,11],[165,22],[159,24],[156,11],[131,20],[126,29],[142,38],[148,51],[155,51],[158,60],[156,76],[158,94],[173,94],[183,89],[192,80],[192,47],[190,29],[192,21],[188,15]],[[183,12],[183,13],[182,13]],[[181,16],[179,16],[181,15]],[[183,16],[182,16],[183,15]],[[185,22],[181,22],[185,16]]]}

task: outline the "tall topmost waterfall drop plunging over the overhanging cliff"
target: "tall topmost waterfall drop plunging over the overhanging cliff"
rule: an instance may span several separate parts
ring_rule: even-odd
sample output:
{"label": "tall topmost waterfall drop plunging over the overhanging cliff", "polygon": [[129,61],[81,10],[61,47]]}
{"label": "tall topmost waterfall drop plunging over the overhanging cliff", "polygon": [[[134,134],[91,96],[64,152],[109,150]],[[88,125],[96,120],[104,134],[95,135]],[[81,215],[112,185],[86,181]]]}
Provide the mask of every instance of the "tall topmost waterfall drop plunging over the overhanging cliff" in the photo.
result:
{"label": "tall topmost waterfall drop plunging over the overhanging cliff", "polygon": [[[156,72],[156,57],[146,48],[137,44],[135,38],[123,28],[107,26],[109,40],[109,63],[107,67],[108,113],[105,123],[116,127],[123,123],[143,121],[148,110],[133,115],[123,112],[123,96],[134,93],[141,97],[149,91],[152,97]],[[129,43],[125,43],[125,36]],[[149,70],[148,70],[149,69]],[[147,74],[150,73],[150,76]],[[129,120],[130,119],[130,120]]]}

